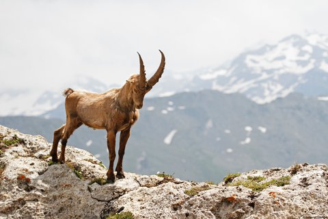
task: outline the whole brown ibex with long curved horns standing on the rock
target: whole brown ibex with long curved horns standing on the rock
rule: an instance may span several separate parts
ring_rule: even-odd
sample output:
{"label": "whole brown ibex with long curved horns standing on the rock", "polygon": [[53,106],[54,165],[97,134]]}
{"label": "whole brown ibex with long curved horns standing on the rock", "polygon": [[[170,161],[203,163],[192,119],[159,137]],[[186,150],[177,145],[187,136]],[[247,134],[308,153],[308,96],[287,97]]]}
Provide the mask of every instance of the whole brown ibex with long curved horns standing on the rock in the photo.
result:
{"label": "whole brown ibex with long curved horns standing on the rock", "polygon": [[118,164],[115,168],[116,177],[124,178],[122,168],[126,142],[130,136],[131,126],[139,118],[139,109],[143,105],[143,97],[161,78],[165,67],[165,56],[161,52],[161,64],[156,73],[146,80],[145,67],[139,55],[140,73],[132,75],[126,80],[122,88],[112,89],[103,94],[82,92],[68,88],[64,91],[66,124],[56,129],[53,133],[53,147],[51,157],[53,162],[58,162],[57,146],[61,140],[61,153],[59,162],[65,163],[65,148],[68,138],[73,131],[82,124],[93,129],[106,129],[107,147],[109,151],[109,170],[107,181],[113,183],[115,175],[113,164],[115,160],[115,138],[120,131],[120,149],[118,151]]}

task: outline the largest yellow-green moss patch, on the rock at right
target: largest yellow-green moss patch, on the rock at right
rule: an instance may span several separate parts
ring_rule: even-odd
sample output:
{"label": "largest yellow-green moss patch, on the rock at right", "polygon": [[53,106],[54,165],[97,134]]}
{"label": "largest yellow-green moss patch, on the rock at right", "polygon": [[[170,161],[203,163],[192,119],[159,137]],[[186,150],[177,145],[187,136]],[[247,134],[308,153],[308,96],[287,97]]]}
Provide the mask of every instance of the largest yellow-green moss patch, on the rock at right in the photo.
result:
{"label": "largest yellow-green moss patch, on the rock at right", "polygon": [[239,180],[234,183],[228,183],[228,186],[238,186],[243,185],[246,188],[253,190],[254,192],[260,192],[269,188],[271,185],[275,186],[284,186],[290,183],[290,177],[280,177],[278,179],[271,179],[271,181],[267,181],[265,183],[261,183],[264,181],[265,177],[247,177],[247,179]]}

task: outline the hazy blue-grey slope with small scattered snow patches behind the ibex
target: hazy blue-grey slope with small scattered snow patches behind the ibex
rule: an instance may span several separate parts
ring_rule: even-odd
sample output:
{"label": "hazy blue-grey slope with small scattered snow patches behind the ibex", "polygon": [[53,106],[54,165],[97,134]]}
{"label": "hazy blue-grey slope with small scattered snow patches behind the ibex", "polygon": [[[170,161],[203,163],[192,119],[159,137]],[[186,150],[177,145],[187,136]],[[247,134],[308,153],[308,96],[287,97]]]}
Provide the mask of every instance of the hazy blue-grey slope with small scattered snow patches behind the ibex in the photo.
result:
{"label": "hazy blue-grey slope with small scattered snow patches behind the ibex", "polygon": [[[258,105],[241,94],[204,90],[146,99],[140,114],[126,147],[127,171],[219,181],[227,172],[328,162],[328,102],[301,94]],[[42,133],[51,142],[61,122],[2,117],[0,124]],[[108,164],[105,131],[81,127],[68,144]]]}

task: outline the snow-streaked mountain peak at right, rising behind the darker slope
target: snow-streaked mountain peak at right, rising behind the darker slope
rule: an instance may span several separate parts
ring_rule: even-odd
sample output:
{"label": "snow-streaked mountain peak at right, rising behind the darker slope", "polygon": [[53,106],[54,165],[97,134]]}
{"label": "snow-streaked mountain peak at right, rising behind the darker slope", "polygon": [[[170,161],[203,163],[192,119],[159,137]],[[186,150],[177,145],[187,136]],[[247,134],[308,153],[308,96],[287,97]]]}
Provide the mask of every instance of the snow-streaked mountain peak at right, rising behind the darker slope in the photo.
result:
{"label": "snow-streaked mountain peak at right, rising behind the darker slope", "polygon": [[197,88],[239,92],[260,104],[291,92],[323,100],[328,96],[328,36],[288,36],[242,53],[228,68],[208,70],[193,81]]}

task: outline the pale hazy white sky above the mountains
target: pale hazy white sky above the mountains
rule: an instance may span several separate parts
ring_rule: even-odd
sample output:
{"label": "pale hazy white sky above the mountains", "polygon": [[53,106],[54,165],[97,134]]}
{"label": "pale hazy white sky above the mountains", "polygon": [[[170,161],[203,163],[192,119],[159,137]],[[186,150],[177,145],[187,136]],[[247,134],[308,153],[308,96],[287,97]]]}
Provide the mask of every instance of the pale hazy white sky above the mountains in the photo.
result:
{"label": "pale hazy white sky above the mountains", "polygon": [[328,34],[327,1],[0,0],[0,92],[55,88],[79,74],[122,83],[160,62],[219,66],[290,34]]}

